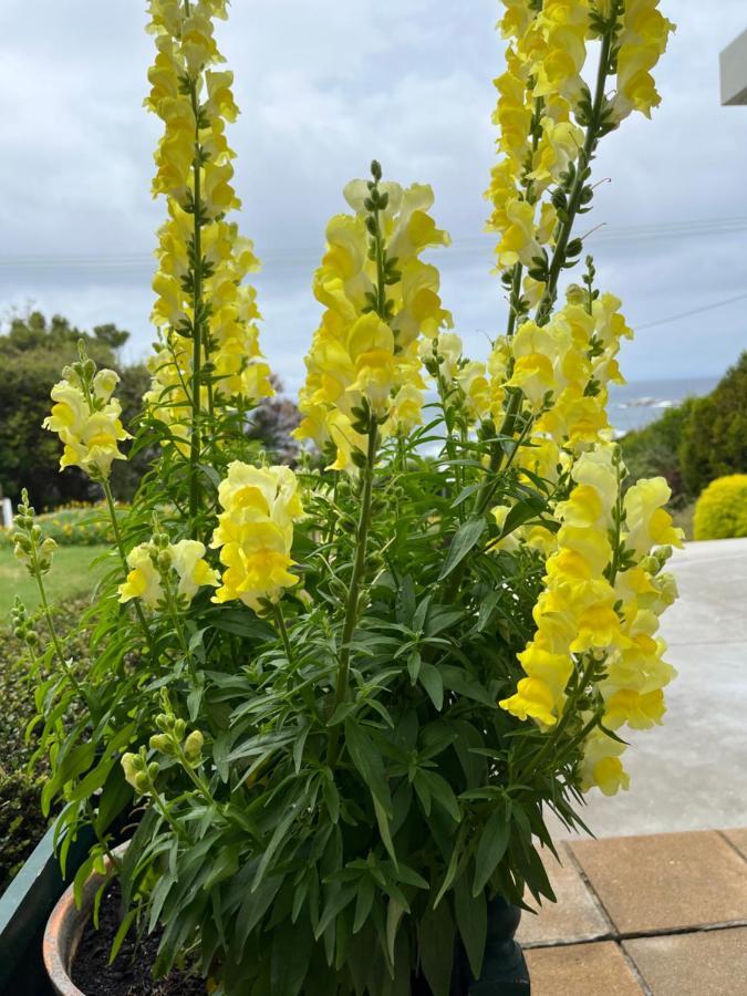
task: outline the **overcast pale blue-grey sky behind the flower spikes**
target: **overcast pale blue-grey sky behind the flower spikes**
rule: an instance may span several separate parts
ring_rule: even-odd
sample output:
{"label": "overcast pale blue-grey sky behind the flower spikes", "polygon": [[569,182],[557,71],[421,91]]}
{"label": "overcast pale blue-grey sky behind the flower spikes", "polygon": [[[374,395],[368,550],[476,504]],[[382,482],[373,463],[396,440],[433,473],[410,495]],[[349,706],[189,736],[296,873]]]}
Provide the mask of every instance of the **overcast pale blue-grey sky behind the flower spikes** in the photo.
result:
{"label": "overcast pale blue-grey sky behind the flower spikes", "polygon": [[[311,277],[340,190],[376,156],[429,183],[454,246],[434,253],[470,352],[502,329],[483,190],[494,162],[496,0],[234,0],[219,45],[242,110],[241,226],[263,260],[263,347],[290,388],[317,325]],[[663,105],[602,144],[578,234],[600,284],[640,329],[629,380],[718,375],[747,346],[747,107],[719,106],[718,53],[745,0],[664,0],[678,24],[656,76]],[[146,114],[152,39],[138,0],[0,0],[0,311],[32,302],[83,328],[132,332],[145,356],[159,122]],[[713,305],[738,295],[743,300]],[[707,309],[675,322],[664,319]],[[651,328],[646,328],[646,326]]]}

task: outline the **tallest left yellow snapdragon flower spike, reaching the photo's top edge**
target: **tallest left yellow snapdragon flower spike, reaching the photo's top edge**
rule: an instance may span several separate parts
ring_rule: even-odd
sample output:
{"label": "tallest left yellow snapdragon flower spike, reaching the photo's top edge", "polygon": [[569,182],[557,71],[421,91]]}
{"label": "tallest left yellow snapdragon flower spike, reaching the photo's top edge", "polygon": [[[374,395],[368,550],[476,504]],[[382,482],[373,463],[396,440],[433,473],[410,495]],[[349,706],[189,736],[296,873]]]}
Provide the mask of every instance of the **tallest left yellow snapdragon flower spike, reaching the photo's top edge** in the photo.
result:
{"label": "tallest left yellow snapdragon flower spike, reaching the photo's top edge", "polygon": [[243,283],[258,268],[253,247],[226,215],[240,206],[232,187],[235,153],[226,122],[238,114],[232,73],[221,63],[214,19],[226,15],[216,0],[151,0],[157,55],[146,106],[164,122],[156,152],[154,196],[167,198],[168,219],[158,238],[156,301],[152,320],[159,343],[151,359],[146,403],[177,439],[189,436],[195,408],[195,364],[200,408],[273,393],[262,361],[253,288]]}

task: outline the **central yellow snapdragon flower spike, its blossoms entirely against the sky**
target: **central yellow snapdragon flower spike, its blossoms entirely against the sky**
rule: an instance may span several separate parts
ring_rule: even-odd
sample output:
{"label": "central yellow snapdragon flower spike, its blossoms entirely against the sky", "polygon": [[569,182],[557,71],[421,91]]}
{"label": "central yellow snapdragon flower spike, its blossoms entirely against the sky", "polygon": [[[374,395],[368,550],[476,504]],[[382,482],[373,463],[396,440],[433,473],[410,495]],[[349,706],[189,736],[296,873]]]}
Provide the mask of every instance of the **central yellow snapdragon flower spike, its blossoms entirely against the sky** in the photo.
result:
{"label": "central yellow snapdragon flower spike, its blossoms entirely against the sky", "polygon": [[419,259],[428,247],[449,243],[428,214],[433,190],[378,184],[385,206],[377,212],[376,247],[369,227],[372,187],[350,183],[344,196],[353,214],[335,216],[326,228],[326,252],[314,277],[314,294],[325,311],[305,359],[303,419],[295,434],[320,449],[332,448],[331,466],[347,473],[355,471],[354,454],[366,446],[354,409],[365,401],[384,434],[418,425],[422,336],[433,339],[453,325],[439,297],[438,270]]}

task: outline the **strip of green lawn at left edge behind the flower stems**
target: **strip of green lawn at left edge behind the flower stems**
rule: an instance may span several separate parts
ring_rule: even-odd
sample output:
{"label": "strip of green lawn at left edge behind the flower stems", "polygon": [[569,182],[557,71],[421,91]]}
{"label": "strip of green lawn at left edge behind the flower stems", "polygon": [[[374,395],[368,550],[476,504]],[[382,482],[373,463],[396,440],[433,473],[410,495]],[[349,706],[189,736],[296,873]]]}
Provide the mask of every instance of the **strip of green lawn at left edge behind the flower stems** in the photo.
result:
{"label": "strip of green lawn at left edge behind the flower stems", "polygon": [[[46,596],[51,603],[91,591],[104,573],[100,563],[91,562],[106,547],[60,547],[54,552],[52,570],[44,578]],[[14,557],[11,547],[0,547],[0,625],[9,622],[10,610],[20,595],[27,609],[39,605],[37,582]]]}

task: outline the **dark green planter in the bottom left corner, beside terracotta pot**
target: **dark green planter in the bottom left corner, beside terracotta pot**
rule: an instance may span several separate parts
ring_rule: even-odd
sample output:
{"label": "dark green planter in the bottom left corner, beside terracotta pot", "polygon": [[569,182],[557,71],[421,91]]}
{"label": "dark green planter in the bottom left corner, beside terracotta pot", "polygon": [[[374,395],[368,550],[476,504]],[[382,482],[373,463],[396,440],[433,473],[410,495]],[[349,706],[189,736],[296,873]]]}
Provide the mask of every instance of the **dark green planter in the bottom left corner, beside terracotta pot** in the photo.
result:
{"label": "dark green planter in the bottom left corner, beside terracotta pot", "polygon": [[42,962],[42,935],[50,913],[87,857],[94,837],[82,833],[71,845],[65,876],[54,854],[53,840],[50,829],[0,896],[0,993],[9,996],[48,996],[53,992]]}

